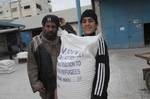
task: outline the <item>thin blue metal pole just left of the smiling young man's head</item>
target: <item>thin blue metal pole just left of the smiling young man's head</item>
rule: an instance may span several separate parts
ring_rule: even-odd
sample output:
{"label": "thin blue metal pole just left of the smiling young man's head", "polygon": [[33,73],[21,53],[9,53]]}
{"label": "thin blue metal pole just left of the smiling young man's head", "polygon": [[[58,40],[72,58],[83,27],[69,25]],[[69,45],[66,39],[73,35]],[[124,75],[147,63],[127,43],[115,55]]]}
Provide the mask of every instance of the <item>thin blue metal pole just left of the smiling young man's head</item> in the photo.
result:
{"label": "thin blue metal pole just left of the smiling young man's head", "polygon": [[78,32],[80,36],[82,36],[82,30],[81,30],[81,24],[80,24],[80,17],[81,17],[80,0],[76,0],[76,8],[77,8],[77,20],[78,20]]}

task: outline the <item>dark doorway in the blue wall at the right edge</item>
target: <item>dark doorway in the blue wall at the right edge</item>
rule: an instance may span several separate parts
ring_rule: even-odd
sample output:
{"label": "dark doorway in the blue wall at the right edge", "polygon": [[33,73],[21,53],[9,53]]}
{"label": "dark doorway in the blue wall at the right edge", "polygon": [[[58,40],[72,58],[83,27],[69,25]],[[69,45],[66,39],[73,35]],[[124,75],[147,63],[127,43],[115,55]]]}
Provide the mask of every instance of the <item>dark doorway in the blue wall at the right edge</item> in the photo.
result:
{"label": "dark doorway in the blue wall at the right edge", "polygon": [[150,23],[144,24],[144,44],[150,45]]}

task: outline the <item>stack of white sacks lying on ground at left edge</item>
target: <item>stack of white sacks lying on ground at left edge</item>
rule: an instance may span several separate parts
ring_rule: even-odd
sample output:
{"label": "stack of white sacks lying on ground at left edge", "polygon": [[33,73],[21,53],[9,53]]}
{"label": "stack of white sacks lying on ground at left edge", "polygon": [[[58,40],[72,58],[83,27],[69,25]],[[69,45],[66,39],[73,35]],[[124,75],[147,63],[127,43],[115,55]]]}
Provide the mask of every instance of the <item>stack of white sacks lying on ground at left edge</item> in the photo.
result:
{"label": "stack of white sacks lying on ground at left edge", "polygon": [[12,73],[15,70],[14,60],[0,60],[0,73]]}

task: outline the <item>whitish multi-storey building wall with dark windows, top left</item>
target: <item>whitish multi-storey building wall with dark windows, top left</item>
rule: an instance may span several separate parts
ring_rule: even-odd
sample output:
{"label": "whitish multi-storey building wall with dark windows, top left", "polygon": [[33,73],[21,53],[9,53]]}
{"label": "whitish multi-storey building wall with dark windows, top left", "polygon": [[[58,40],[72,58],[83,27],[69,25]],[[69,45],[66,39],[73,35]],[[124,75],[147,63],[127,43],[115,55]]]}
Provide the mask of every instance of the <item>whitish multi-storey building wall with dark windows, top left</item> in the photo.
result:
{"label": "whitish multi-storey building wall with dark windows, top left", "polygon": [[21,0],[7,2],[0,6],[0,19],[18,19],[48,13],[52,7],[47,0]]}

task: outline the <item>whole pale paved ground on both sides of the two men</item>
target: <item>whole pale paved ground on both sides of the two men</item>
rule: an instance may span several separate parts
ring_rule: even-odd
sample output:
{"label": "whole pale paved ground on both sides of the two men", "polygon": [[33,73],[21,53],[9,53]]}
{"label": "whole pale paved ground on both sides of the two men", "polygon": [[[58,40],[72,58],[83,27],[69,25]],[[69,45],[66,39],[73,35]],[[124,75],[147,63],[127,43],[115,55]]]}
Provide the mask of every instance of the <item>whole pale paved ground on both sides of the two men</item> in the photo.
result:
{"label": "whole pale paved ground on both sides of the two men", "polygon": [[[150,99],[142,74],[142,68],[148,65],[134,56],[145,51],[150,51],[150,48],[109,50],[109,99]],[[26,63],[16,64],[14,73],[0,74],[0,99],[40,99],[38,93],[31,91]]]}

